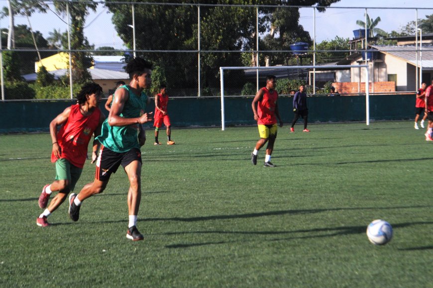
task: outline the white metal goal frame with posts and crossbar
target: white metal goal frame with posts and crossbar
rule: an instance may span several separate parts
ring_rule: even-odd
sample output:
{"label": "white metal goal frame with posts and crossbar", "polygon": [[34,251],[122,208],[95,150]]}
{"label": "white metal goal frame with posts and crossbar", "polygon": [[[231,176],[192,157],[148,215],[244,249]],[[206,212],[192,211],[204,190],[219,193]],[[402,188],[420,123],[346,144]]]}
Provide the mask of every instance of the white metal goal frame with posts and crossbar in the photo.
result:
{"label": "white metal goal frame with posts and crossbar", "polygon": [[[275,69],[317,69],[317,68],[365,68],[366,81],[365,81],[365,119],[366,125],[370,125],[370,93],[369,93],[369,79],[368,64],[362,65],[311,65],[311,66],[255,66],[255,67],[219,67],[220,87],[221,87],[221,130],[225,130],[225,117],[224,117],[224,71],[225,70],[275,70]],[[361,77],[361,75],[359,75]]]}

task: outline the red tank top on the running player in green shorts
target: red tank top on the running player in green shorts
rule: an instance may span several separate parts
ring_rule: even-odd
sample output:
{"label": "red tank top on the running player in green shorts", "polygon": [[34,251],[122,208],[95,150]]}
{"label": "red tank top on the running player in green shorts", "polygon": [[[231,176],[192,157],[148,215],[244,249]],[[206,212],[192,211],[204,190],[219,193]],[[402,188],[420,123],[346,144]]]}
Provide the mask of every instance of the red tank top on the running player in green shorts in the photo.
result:
{"label": "red tank top on the running player in green shorts", "polygon": [[[80,112],[80,105],[71,106],[68,121],[57,133],[57,143],[62,149],[61,158],[68,159],[71,164],[83,168],[87,156],[87,147],[92,135],[99,125],[101,110],[98,107],[88,116]],[[51,153],[51,162],[57,161]]]}

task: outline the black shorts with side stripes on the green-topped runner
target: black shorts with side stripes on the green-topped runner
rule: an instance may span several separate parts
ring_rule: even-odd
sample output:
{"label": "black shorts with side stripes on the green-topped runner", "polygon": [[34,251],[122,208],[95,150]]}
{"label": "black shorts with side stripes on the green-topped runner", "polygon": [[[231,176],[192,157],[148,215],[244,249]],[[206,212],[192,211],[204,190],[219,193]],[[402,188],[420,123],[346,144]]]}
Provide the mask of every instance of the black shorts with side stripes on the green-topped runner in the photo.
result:
{"label": "black shorts with side stripes on the green-topped runner", "polygon": [[135,160],[142,163],[141,151],[138,148],[132,148],[129,151],[119,153],[111,151],[102,145],[98,161],[96,162],[95,178],[100,181],[108,181],[111,173],[115,173],[120,165],[125,168]]}

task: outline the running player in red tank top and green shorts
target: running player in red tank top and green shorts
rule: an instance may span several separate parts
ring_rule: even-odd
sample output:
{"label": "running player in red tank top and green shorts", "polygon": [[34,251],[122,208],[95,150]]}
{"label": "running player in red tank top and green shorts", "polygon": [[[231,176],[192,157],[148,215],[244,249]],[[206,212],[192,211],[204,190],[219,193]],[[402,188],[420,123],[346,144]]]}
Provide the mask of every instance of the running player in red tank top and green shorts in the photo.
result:
{"label": "running player in red tank top and green shorts", "polygon": [[[48,208],[36,219],[41,227],[49,226],[47,217],[54,212],[73,191],[87,158],[87,147],[92,135],[101,134],[104,115],[98,108],[102,88],[96,83],[85,84],[77,95],[77,104],[66,108],[50,123],[53,144],[51,161],[56,163],[56,178],[43,187],[39,207],[46,208],[53,191],[58,191]],[[59,132],[57,128],[60,127]],[[92,163],[97,158],[98,141],[93,141]]]}

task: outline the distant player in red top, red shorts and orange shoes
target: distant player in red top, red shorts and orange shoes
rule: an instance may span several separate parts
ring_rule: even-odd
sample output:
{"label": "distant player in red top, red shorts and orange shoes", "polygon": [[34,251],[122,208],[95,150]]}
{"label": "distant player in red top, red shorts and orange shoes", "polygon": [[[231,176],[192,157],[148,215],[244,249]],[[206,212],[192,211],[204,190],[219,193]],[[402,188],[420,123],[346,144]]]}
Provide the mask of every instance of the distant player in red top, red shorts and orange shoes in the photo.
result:
{"label": "distant player in red top, red shorts and orange shoes", "polygon": [[164,123],[167,128],[167,145],[175,144],[174,141],[171,140],[171,124],[170,117],[167,114],[167,105],[168,105],[168,94],[167,87],[165,84],[161,84],[159,87],[159,93],[155,96],[155,121],[153,126],[155,127],[155,144],[160,145],[158,142],[158,134],[159,129],[162,127],[162,123]]}

